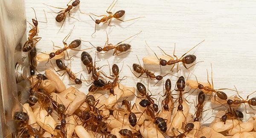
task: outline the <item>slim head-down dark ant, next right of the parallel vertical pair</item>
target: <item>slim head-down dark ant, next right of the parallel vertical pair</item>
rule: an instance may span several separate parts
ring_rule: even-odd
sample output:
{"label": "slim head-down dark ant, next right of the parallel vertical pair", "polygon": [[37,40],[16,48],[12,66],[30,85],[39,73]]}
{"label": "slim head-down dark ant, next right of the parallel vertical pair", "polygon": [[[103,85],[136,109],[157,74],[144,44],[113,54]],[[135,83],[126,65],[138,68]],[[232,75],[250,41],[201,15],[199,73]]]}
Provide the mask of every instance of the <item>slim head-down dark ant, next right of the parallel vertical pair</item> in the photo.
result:
{"label": "slim head-down dark ant, next right of the parallel vertical pair", "polygon": [[205,94],[203,91],[201,91],[199,94],[198,94],[198,104],[197,106],[195,107],[196,108],[196,112],[195,112],[195,118],[194,118],[194,122],[195,121],[198,121],[199,122],[199,119],[201,118],[202,116],[202,112],[203,112],[203,108],[204,108],[204,101],[205,101]]}

